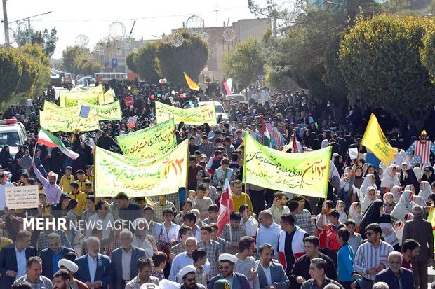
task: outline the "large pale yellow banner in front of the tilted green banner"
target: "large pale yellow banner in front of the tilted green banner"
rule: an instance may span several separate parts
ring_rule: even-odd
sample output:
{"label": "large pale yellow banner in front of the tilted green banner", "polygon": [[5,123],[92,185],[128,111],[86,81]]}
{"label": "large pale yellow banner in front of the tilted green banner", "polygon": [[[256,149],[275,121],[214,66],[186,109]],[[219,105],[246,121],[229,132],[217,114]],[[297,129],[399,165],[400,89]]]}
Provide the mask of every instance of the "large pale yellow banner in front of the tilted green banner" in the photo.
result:
{"label": "large pale yellow banner in front of the tilted green banner", "polygon": [[132,157],[95,148],[95,192],[113,197],[125,192],[129,197],[158,196],[178,192],[187,182],[189,141],[157,159]]}

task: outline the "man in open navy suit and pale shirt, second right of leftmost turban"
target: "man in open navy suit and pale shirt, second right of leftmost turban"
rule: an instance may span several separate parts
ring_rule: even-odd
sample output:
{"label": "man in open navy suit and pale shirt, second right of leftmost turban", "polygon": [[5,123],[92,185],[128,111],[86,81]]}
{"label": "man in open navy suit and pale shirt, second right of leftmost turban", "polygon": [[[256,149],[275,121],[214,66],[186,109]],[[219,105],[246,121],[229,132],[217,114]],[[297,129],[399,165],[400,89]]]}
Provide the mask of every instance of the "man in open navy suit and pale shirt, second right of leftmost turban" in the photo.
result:
{"label": "man in open navy suit and pale shirt, second right of leftmost turban", "polygon": [[119,233],[121,248],[112,253],[112,267],[114,270],[113,284],[115,288],[124,288],[126,283],[135,278],[138,273],[138,260],[145,256],[145,250],[133,246],[133,233],[123,230]]}

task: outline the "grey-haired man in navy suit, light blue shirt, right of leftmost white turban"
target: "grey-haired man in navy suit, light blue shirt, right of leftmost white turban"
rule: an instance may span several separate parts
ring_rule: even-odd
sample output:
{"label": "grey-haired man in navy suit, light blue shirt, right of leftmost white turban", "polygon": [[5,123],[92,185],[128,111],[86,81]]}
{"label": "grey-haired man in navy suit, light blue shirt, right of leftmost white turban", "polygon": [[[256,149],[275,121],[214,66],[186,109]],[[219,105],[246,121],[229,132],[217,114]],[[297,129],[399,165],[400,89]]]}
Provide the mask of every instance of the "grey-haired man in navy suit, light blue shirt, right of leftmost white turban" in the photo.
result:
{"label": "grey-haired man in navy suit, light blue shirt, right of leftmost white turban", "polygon": [[106,255],[100,252],[100,239],[89,237],[86,244],[88,253],[75,260],[79,266],[76,272],[76,279],[86,283],[91,288],[109,288],[112,281],[112,262]]}

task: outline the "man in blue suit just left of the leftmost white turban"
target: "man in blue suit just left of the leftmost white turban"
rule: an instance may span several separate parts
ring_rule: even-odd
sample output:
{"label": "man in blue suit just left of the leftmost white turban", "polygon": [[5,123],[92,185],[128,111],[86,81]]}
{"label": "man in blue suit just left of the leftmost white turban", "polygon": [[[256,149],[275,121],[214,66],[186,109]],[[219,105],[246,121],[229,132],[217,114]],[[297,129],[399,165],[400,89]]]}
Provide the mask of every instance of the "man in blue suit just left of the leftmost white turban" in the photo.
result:
{"label": "man in blue suit just left of the leftmost white turban", "polygon": [[[48,248],[42,250],[39,255],[44,264],[42,267],[42,275],[46,276],[48,279],[53,279],[53,275],[59,270],[58,262],[62,259],[63,254],[68,252],[74,251],[60,245],[60,236],[58,234],[49,234]],[[55,267],[53,267],[53,265],[55,265]]]}

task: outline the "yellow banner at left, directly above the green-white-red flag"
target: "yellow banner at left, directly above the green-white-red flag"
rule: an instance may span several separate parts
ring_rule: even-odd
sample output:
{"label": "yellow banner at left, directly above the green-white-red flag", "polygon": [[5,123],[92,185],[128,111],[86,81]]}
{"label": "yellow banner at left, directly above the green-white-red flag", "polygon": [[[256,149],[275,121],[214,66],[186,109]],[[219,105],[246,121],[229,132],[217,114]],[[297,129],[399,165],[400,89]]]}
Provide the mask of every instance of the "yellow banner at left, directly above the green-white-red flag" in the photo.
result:
{"label": "yellow banner at left, directly above the green-white-red flag", "polygon": [[89,118],[82,118],[79,115],[69,116],[39,111],[39,122],[41,127],[50,132],[74,132],[76,129],[81,132],[91,132],[100,128],[97,113],[89,113]]}

